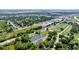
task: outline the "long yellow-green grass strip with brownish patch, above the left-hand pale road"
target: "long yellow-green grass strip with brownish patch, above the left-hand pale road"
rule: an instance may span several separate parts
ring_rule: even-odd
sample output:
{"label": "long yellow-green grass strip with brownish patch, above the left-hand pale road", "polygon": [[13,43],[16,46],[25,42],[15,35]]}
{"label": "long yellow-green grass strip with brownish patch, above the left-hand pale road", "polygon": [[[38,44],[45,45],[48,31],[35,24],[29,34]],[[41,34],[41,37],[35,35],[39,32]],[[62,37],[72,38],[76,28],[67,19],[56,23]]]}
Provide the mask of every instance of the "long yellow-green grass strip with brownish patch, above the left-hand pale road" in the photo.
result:
{"label": "long yellow-green grass strip with brownish patch, above the left-hand pale road", "polygon": [[17,34],[19,34],[19,33],[26,33],[26,34],[28,34],[27,32],[30,32],[32,29],[37,29],[38,27],[39,26],[37,24],[34,24],[32,26],[25,27],[23,29],[15,31],[15,32],[6,33],[5,35],[0,36],[0,42],[8,40],[8,39],[11,39],[14,36],[17,36]]}

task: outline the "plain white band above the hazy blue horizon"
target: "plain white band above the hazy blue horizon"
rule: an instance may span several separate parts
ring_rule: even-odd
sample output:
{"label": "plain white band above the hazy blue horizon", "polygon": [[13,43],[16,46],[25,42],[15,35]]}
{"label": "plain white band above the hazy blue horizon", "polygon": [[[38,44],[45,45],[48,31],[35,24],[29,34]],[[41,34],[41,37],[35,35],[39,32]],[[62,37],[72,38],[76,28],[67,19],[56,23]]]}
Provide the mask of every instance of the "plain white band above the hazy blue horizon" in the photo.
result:
{"label": "plain white band above the hazy blue horizon", "polygon": [[78,0],[0,0],[0,9],[79,9]]}

